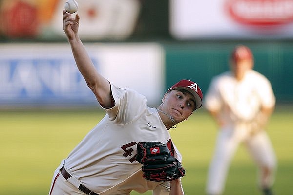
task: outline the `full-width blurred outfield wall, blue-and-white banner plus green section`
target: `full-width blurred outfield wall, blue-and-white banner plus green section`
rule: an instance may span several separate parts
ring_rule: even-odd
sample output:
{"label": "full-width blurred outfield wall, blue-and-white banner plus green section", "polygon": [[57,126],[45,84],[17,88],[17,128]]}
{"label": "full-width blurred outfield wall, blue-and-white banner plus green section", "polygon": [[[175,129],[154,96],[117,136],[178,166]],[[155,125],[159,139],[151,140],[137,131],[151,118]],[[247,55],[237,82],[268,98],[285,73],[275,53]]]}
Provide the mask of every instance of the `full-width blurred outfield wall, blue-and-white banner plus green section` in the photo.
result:
{"label": "full-width blurred outfield wall, blue-and-white banner plus green section", "polygon": [[[86,43],[95,67],[122,88],[145,95],[150,106],[180,79],[204,94],[212,76],[228,70],[230,43]],[[293,102],[293,44],[248,42],[255,70],[272,82],[278,102]],[[0,108],[98,106],[75,66],[68,43],[0,44]]]}

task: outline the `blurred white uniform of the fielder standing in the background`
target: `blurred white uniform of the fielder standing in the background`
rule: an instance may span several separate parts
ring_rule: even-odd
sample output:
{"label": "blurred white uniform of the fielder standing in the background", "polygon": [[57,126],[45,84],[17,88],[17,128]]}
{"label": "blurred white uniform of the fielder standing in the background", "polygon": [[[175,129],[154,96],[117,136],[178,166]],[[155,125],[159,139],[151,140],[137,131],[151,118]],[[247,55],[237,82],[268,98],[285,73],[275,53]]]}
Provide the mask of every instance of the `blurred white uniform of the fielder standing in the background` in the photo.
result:
{"label": "blurred white uniform of the fielder standing in the background", "polygon": [[[222,193],[231,158],[240,142],[245,143],[259,166],[274,170],[276,158],[266,132],[261,131],[255,136],[249,132],[249,121],[253,120],[260,107],[273,107],[274,104],[270,82],[254,70],[248,71],[241,81],[237,81],[230,71],[212,79],[204,106],[210,111],[219,111],[225,124],[218,131],[209,167],[207,194]],[[271,186],[272,181],[273,174],[261,185]]]}

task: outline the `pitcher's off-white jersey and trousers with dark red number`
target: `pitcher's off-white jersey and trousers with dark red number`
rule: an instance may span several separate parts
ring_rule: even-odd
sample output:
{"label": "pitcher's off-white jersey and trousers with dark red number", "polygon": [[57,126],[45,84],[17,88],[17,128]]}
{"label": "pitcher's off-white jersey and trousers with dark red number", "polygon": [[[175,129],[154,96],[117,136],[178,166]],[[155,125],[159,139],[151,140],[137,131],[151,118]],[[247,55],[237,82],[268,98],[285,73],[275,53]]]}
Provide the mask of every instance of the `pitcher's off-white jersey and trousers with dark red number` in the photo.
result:
{"label": "pitcher's off-white jersey and trousers with dark red number", "polygon": [[[99,195],[129,195],[131,190],[169,195],[170,182],[152,182],[142,177],[142,164],[134,161],[138,142],[157,141],[172,145],[181,155],[156,108],[146,105],[146,97],[134,90],[111,85],[115,106],[76,146],[56,169],[51,195],[84,195],[79,183]],[[64,165],[71,176],[66,180],[59,169]]]}

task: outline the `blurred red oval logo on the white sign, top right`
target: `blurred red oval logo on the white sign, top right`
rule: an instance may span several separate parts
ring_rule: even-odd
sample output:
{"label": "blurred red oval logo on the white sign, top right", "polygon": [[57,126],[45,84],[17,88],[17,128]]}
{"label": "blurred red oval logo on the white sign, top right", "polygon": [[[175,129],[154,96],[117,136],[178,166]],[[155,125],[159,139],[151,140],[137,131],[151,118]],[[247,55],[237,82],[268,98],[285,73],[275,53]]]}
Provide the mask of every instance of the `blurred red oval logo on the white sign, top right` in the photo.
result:
{"label": "blurred red oval logo on the white sign, top right", "polygon": [[248,25],[279,25],[293,22],[293,0],[228,0],[229,15]]}

